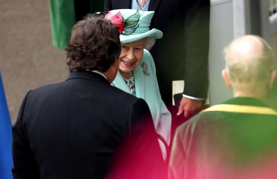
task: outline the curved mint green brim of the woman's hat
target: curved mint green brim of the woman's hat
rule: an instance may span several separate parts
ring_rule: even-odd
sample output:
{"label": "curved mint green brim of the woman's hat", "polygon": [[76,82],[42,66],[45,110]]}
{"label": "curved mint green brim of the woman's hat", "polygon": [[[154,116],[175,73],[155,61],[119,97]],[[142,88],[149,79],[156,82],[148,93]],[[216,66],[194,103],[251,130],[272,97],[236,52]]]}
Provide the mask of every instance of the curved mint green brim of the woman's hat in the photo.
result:
{"label": "curved mint green brim of the woman's hat", "polygon": [[120,42],[121,43],[130,43],[130,42],[134,42],[134,41],[138,41],[141,40],[145,37],[154,37],[155,39],[160,39],[162,38],[162,31],[158,30],[158,29],[151,29],[143,34],[136,34],[136,35],[120,35]]}

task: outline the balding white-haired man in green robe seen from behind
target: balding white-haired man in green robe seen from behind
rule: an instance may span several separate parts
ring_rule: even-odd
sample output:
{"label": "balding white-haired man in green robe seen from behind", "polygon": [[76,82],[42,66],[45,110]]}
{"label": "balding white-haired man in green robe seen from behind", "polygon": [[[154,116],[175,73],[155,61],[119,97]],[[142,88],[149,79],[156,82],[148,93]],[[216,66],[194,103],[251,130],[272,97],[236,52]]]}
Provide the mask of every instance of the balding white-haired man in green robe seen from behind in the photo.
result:
{"label": "balding white-haired man in green robe seen from behind", "polygon": [[246,35],[225,49],[222,77],[234,97],[181,125],[169,178],[277,178],[277,111],[264,101],[276,76],[271,47]]}

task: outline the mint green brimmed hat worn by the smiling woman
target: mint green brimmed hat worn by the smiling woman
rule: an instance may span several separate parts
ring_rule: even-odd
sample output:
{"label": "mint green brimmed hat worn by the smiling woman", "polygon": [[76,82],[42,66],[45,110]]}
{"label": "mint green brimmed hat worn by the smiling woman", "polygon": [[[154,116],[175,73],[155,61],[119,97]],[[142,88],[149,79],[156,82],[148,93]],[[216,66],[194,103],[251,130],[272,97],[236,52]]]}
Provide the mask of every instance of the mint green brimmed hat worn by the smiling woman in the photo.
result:
{"label": "mint green brimmed hat worn by the smiling woman", "polygon": [[[155,39],[162,38],[162,35],[163,35],[162,31],[155,28],[149,30],[151,19],[155,13],[154,11],[116,9],[116,10],[110,11],[110,13],[113,15],[120,14],[123,17],[124,29],[119,36],[121,43],[130,43],[130,42],[138,41],[145,37],[154,37]],[[134,19],[138,20],[137,24],[134,23],[135,22]],[[130,24],[135,26],[132,27],[130,26]]]}

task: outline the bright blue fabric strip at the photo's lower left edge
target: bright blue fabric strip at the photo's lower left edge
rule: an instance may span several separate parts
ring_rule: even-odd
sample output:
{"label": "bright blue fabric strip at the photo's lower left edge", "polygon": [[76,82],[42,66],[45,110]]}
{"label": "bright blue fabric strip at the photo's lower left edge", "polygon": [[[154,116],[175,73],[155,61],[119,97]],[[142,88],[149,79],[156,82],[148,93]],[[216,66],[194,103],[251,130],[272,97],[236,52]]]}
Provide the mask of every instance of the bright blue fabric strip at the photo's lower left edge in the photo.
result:
{"label": "bright blue fabric strip at the photo's lower left edge", "polygon": [[0,178],[12,178],[12,123],[0,73]]}

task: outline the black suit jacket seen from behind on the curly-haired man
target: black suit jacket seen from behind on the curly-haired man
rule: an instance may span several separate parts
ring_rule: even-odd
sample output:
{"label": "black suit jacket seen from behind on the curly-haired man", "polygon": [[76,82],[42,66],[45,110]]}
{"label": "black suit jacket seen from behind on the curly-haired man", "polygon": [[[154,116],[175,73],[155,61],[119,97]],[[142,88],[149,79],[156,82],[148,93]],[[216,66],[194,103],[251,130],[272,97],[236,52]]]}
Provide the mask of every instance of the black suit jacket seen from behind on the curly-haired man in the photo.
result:
{"label": "black suit jacket seen from behind on the curly-haired man", "polygon": [[163,160],[149,116],[144,100],[100,74],[72,72],[25,96],[12,127],[13,176],[156,178],[151,170],[161,172],[153,163]]}

